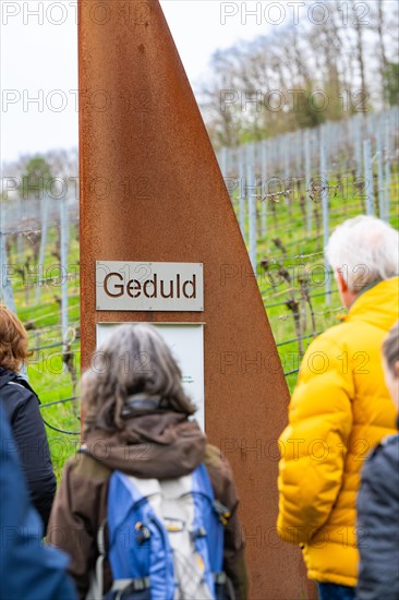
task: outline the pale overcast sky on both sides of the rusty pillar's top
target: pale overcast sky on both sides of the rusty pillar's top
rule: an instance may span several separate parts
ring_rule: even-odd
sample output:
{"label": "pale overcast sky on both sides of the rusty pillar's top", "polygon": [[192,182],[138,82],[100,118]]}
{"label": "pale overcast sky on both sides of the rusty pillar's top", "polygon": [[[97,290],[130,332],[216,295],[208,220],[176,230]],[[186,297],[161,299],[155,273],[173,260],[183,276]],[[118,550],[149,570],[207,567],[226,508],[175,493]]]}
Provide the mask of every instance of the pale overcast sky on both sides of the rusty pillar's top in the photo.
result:
{"label": "pale overcast sky on both sides of the rusty pillar's top", "polygon": [[[262,2],[263,8],[267,4]],[[254,38],[271,26],[264,14],[249,15],[245,23],[242,5],[251,10],[256,2],[161,0],[161,5],[194,87],[217,48]],[[0,10],[2,161],[76,146],[76,1],[1,0]],[[269,22],[280,19],[277,12],[268,16]],[[32,103],[35,97],[37,104]]]}

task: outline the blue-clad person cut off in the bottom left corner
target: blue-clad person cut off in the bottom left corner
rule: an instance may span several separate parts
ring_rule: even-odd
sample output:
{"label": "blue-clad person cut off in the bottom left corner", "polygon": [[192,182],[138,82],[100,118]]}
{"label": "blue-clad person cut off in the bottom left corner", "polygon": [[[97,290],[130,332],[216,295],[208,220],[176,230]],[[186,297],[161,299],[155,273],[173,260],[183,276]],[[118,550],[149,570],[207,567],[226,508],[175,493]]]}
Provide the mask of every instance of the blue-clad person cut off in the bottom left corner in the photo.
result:
{"label": "blue-clad person cut off in the bottom left corner", "polygon": [[7,416],[0,405],[0,598],[75,600],[68,556],[43,545]]}

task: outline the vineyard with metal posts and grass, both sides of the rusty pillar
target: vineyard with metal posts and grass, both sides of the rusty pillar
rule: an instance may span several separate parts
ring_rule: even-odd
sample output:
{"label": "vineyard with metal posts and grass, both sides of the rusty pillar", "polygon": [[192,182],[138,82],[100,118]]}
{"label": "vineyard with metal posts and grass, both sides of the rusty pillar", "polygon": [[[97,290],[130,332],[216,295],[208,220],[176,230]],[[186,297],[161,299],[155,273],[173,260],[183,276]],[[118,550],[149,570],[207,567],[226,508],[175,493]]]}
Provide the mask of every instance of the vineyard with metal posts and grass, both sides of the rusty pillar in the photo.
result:
{"label": "vineyard with metal posts and grass, both sides of the rusty pillar", "polygon": [[[398,153],[395,108],[218,154],[253,265],[237,275],[256,276],[290,389],[309,344],[343,312],[324,259],[330,231],[359,214],[399,225]],[[55,189],[3,192],[0,250],[59,473],[80,434],[80,240],[77,194]]]}

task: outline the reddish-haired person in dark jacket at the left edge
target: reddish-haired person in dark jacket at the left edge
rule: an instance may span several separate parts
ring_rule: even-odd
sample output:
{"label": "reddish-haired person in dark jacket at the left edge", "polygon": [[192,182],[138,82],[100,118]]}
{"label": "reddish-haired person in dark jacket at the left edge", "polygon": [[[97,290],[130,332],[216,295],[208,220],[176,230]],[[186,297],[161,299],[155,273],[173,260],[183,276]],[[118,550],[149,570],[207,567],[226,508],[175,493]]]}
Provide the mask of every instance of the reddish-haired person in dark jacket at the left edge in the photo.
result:
{"label": "reddish-haired person in dark jacket at the left edge", "polygon": [[0,305],[0,401],[11,424],[32,502],[46,530],[57,482],[39,399],[27,381],[19,375],[27,357],[27,334],[23,324],[9,309]]}

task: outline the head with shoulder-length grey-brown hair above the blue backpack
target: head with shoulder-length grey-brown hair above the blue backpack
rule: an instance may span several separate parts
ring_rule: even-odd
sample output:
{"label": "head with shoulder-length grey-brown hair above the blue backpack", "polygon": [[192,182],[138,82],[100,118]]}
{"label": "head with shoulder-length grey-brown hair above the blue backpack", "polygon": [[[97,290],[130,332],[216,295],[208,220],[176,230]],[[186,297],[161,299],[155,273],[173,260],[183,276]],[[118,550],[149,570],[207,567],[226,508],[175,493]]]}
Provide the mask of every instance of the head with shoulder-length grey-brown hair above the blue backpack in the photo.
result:
{"label": "head with shoulder-length grey-brown hair above the blue backpack", "polygon": [[153,410],[193,415],[181,371],[155,327],[121,325],[95,352],[82,377],[86,431],[122,430],[125,419]]}

